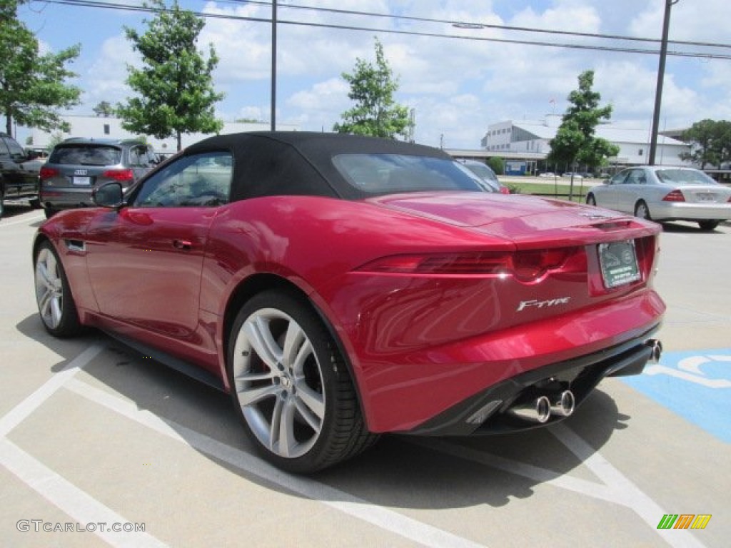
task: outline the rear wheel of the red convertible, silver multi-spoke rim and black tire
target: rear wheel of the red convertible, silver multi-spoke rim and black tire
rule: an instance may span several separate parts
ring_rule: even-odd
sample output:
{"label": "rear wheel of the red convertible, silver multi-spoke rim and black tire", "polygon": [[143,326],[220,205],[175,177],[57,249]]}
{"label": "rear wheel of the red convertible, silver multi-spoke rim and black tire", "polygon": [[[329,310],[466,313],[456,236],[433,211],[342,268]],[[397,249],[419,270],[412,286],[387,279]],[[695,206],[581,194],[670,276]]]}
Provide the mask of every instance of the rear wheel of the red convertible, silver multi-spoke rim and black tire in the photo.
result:
{"label": "rear wheel of the red convertible, silver multi-spoke rim and black tire", "polygon": [[227,368],[246,432],[283,470],[312,473],[377,439],[366,429],[332,336],[296,294],[271,290],[243,305],[230,333]]}

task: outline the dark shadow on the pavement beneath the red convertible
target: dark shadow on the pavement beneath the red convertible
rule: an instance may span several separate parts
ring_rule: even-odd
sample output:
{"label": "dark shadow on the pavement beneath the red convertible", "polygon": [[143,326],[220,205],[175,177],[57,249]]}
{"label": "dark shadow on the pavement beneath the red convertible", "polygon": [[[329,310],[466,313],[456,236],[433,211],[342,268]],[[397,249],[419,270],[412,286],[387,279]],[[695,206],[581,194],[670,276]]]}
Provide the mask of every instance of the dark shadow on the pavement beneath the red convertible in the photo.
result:
{"label": "dark shadow on the pavement beneath the red convertible", "polygon": [[[23,335],[62,358],[51,368],[56,373],[88,346],[102,346],[102,352],[83,372],[77,373],[77,380],[134,402],[138,410],[149,411],[173,427],[192,448],[197,448],[193,432],[234,451],[256,455],[238,424],[230,397],[224,393],[145,358],[94,330],[79,338],[58,340],[43,330],[35,315],[17,327]],[[609,394],[597,389],[563,425],[580,433],[593,451],[599,451],[613,432],[624,429],[630,419],[618,411]],[[310,494],[292,492],[286,481],[272,479],[287,474],[274,472],[263,477],[258,465],[255,470],[248,469],[197,450],[211,462],[249,482],[289,495]],[[333,493],[342,493],[348,501],[357,498],[391,508],[453,509],[475,504],[498,507],[509,504],[511,499],[531,497],[534,489],[546,481],[521,473],[524,465],[534,467],[531,469],[539,471],[539,476],[550,479],[572,473],[582,466],[582,461],[547,428],[477,438],[384,435],[360,456],[314,474],[309,480],[329,487],[330,497],[337,498]],[[317,494],[317,490],[312,492]]]}

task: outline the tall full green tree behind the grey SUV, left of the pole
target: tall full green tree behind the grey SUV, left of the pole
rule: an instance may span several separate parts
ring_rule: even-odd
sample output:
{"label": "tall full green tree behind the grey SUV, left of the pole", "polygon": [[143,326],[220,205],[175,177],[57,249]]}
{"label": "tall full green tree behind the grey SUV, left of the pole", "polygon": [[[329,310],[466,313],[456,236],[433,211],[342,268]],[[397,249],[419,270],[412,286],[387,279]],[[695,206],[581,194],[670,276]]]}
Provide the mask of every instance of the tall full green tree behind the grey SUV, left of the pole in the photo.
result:
{"label": "tall full green tree behind the grey SUV, left of the pole", "polygon": [[213,45],[208,45],[208,58],[197,50],[205,22],[181,9],[177,0],[170,9],[163,0],[144,5],[155,10],[154,19],[145,20],[147,31],[140,34],[134,28],[124,28],[132,47],[142,56],[141,69],[127,67],[127,84],[138,96],[119,104],[117,115],[127,131],[158,139],[175,136],[179,151],[183,133],[216,133],[223,128],[214,105],[224,95],[213,89],[212,77],[219,58]]}

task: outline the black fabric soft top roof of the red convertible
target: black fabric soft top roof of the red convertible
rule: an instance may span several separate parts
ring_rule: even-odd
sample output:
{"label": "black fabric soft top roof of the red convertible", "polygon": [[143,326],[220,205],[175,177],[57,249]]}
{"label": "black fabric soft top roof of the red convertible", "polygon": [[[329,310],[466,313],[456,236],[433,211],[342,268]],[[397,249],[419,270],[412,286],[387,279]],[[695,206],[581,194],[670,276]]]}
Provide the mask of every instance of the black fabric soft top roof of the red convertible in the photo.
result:
{"label": "black fabric soft top roof of the red convertible", "polygon": [[338,133],[247,132],[216,135],[186,148],[185,154],[231,151],[235,158],[232,199],[276,195],[360,199],[333,157],[339,154],[404,154],[450,159],[437,148]]}

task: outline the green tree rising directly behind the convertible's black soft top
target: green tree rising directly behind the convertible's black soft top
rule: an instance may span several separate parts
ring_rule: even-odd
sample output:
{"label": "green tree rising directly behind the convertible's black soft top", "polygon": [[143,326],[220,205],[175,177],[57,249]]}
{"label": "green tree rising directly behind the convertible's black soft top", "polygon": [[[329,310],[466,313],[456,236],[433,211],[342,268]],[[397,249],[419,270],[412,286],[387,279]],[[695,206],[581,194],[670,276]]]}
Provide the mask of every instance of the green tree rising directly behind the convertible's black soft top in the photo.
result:
{"label": "green tree rising directly behind the convertible's black soft top", "polygon": [[353,74],[343,73],[350,84],[349,99],[355,107],[346,110],[342,122],[333,126],[338,133],[371,135],[395,139],[409,133],[409,108],[397,104],[393,94],[398,90],[398,79],[393,77],[383,55],[383,46],[376,38],[376,65],[358,58]]}

